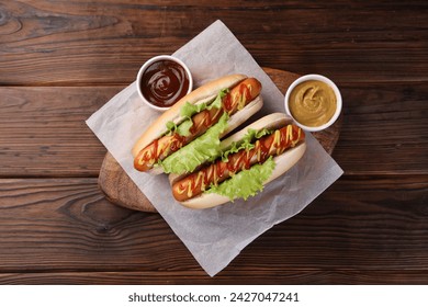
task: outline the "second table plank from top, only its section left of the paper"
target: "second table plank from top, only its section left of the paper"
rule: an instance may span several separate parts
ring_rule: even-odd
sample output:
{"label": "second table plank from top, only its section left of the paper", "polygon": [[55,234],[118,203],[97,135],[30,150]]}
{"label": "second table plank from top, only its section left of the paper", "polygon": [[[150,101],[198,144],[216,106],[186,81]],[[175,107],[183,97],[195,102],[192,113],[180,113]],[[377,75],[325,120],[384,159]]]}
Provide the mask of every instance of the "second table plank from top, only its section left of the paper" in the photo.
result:
{"label": "second table plank from top, only its section left of the paper", "polygon": [[0,177],[98,175],[106,150],[85,121],[122,89],[0,88]]}

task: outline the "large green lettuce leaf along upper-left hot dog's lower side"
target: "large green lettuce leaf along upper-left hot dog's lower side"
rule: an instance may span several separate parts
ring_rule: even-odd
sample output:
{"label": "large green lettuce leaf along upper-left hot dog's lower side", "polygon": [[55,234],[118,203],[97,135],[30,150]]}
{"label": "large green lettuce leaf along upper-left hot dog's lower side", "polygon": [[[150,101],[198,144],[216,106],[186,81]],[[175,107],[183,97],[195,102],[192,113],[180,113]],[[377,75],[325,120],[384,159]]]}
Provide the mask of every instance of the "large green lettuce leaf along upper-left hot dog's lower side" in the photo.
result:
{"label": "large green lettuce leaf along upper-left hot dog's lower side", "polygon": [[192,172],[201,163],[213,161],[222,155],[219,135],[227,128],[228,115],[224,113],[218,123],[203,135],[180,148],[162,161],[159,161],[166,173],[182,174]]}

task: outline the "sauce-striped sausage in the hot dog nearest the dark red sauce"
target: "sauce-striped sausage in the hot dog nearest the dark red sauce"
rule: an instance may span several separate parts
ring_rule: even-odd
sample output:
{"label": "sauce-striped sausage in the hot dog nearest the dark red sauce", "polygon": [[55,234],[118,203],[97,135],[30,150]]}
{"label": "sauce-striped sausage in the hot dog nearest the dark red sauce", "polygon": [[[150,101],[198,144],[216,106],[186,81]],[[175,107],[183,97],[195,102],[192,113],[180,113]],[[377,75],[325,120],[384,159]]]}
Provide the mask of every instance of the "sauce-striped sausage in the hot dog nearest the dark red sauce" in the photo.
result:
{"label": "sauce-striped sausage in the hot dog nearest the dark red sauce", "polygon": [[143,148],[134,159],[134,168],[139,171],[148,171],[157,161],[165,159],[204,134],[219,121],[224,112],[233,115],[244,109],[245,105],[260,94],[260,91],[261,83],[257,79],[245,79],[223,96],[222,109],[212,107],[192,116],[193,124],[189,129],[189,136],[180,136],[178,133],[172,133],[154,140]]}

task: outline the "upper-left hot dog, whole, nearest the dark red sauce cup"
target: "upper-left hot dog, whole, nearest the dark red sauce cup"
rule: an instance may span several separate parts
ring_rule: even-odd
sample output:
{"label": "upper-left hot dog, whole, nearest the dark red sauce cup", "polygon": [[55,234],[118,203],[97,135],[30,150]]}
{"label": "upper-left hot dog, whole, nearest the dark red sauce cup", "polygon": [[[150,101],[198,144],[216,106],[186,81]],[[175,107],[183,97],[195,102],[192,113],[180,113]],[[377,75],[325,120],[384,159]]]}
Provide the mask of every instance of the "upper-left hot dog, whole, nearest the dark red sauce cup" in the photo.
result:
{"label": "upper-left hot dog, whole, nearest the dark red sauce cup", "polygon": [[[182,173],[191,170],[192,167],[185,170],[171,167],[177,163],[171,162],[172,158],[169,157],[174,152],[178,155],[181,148],[207,133],[219,122],[224,128],[218,128],[217,138],[244,123],[261,109],[260,91],[261,83],[245,75],[226,76],[194,90],[159,116],[140,136],[133,148],[134,168],[150,173]],[[195,113],[189,115],[189,110]],[[170,127],[173,129],[170,130]],[[213,132],[212,134],[214,135]],[[177,155],[174,157],[178,157]],[[210,155],[202,155],[201,159],[210,159]]]}

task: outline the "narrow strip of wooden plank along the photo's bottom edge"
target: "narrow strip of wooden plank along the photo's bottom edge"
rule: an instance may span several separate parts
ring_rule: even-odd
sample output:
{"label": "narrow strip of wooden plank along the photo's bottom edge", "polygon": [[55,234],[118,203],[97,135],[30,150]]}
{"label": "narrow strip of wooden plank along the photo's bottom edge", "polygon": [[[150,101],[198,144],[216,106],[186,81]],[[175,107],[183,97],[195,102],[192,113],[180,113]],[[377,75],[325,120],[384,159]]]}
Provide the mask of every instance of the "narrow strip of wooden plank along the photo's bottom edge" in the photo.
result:
{"label": "narrow strip of wooden plank along the photo's bottom edge", "polygon": [[[37,272],[0,273],[0,284],[97,284],[97,285],[420,285],[427,284],[427,270],[305,270],[279,269],[267,272],[232,271],[209,277],[200,271],[132,271],[132,272]],[[405,282],[403,282],[405,281]]]}

